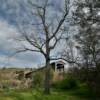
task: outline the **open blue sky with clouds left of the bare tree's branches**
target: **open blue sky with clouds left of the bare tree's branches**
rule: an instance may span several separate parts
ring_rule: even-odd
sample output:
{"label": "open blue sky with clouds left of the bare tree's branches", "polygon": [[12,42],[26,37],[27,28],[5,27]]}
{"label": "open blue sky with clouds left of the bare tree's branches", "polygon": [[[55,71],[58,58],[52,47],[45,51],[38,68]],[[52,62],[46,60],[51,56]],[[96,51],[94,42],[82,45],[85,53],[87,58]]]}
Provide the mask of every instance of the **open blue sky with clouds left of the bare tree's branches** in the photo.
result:
{"label": "open blue sky with clouds left of the bare tree's branches", "polygon": [[[57,6],[61,4],[61,1],[55,0],[54,4],[55,9],[58,9]],[[32,21],[32,16],[28,10],[27,0],[0,0],[0,67],[35,67],[44,63],[43,56],[37,53],[27,52],[9,57],[19,46],[12,39],[19,34],[18,22]]]}

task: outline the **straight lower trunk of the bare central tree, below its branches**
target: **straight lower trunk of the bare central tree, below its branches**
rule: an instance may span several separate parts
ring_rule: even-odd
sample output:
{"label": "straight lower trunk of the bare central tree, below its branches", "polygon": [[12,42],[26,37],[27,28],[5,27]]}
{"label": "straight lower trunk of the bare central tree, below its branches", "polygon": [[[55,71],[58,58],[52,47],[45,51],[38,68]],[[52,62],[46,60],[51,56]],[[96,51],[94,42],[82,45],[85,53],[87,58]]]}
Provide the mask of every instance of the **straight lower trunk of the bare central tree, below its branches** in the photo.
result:
{"label": "straight lower trunk of the bare central tree, below its branches", "polygon": [[46,60],[44,93],[50,94],[50,60]]}

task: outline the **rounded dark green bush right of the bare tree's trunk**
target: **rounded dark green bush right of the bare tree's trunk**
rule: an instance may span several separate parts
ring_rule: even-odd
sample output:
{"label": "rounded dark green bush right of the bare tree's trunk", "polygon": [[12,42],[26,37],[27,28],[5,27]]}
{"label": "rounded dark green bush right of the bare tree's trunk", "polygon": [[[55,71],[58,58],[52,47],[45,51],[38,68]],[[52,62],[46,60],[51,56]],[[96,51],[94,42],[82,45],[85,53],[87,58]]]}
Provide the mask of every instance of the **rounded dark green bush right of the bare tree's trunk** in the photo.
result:
{"label": "rounded dark green bush right of the bare tree's trunk", "polygon": [[57,81],[52,84],[53,88],[56,89],[63,89],[63,90],[68,90],[68,89],[73,89],[78,86],[77,80],[73,78],[65,78],[61,81]]}

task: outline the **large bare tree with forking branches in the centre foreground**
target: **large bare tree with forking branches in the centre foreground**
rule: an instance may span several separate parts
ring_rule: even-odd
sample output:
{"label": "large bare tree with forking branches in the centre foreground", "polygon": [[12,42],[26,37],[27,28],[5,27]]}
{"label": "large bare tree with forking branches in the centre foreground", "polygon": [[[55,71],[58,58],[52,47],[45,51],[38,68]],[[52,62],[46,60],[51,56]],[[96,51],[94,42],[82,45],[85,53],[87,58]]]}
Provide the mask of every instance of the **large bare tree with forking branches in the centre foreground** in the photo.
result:
{"label": "large bare tree with forking branches in the centre foreground", "polygon": [[[32,32],[21,29],[21,37],[17,38],[23,45],[17,53],[32,51],[39,52],[45,58],[45,82],[44,92],[50,93],[50,60],[51,51],[57,43],[66,36],[66,19],[69,15],[70,0],[62,0],[61,7],[55,7],[50,0],[43,0],[41,3],[29,1],[31,14],[34,23]],[[28,45],[26,45],[28,43]],[[30,46],[31,47],[30,47]]]}

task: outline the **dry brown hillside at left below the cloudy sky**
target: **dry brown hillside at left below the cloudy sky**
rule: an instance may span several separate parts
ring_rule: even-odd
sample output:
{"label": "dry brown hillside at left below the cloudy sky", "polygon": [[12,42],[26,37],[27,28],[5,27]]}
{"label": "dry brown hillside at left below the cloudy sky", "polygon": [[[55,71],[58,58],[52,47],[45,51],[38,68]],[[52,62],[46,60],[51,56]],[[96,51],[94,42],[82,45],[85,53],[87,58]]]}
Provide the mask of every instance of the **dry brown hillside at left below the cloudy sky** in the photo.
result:
{"label": "dry brown hillside at left below the cloudy sky", "polygon": [[28,82],[30,82],[30,80],[24,79],[22,76],[24,76],[23,73],[30,71],[31,69],[23,68],[0,69],[0,88],[21,88],[22,86],[28,87]]}

